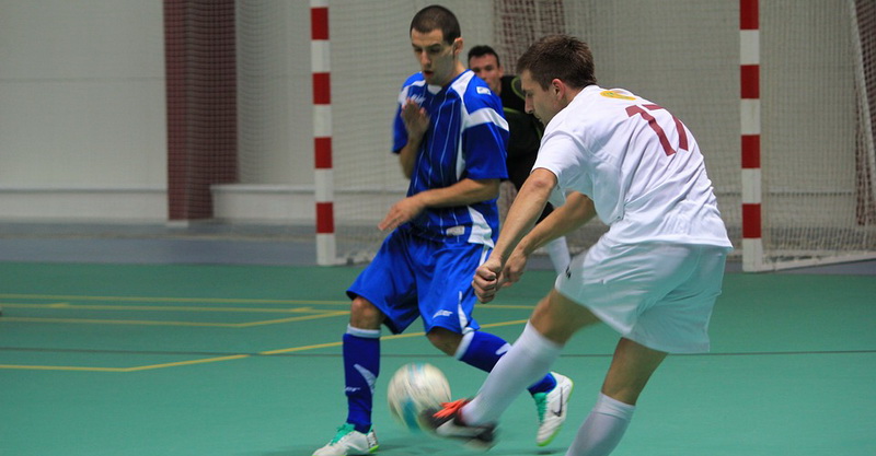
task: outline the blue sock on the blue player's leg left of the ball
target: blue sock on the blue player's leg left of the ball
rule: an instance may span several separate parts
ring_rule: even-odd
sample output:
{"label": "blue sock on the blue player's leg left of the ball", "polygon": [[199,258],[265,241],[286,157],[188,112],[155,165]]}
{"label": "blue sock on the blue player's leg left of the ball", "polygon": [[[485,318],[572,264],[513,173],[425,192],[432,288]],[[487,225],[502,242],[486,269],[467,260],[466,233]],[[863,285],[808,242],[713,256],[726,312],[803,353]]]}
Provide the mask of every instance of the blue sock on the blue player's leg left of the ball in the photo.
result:
{"label": "blue sock on the blue player's leg left of the ball", "polygon": [[374,383],[380,374],[380,329],[347,327],[343,340],[347,422],[366,433],[371,429]]}

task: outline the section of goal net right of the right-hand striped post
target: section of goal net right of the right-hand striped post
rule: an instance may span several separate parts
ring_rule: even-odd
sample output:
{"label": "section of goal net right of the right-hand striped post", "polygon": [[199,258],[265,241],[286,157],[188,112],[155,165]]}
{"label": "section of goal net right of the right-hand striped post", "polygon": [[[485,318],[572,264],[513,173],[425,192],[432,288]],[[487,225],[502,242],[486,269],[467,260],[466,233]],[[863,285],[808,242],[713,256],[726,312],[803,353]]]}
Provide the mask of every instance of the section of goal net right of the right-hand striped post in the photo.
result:
{"label": "section of goal net right of the right-hand striped post", "polygon": [[[857,7],[865,3],[804,9],[791,0],[761,2],[766,269],[876,250],[867,188],[873,168],[862,160],[873,156],[865,141],[865,136],[872,141],[872,132],[865,135],[863,128],[873,101],[867,101],[861,74],[869,67],[873,83],[873,56],[862,61],[855,52],[862,36],[852,26]],[[868,25],[858,30],[872,35],[873,24]],[[806,46],[788,51],[788,43]]]}

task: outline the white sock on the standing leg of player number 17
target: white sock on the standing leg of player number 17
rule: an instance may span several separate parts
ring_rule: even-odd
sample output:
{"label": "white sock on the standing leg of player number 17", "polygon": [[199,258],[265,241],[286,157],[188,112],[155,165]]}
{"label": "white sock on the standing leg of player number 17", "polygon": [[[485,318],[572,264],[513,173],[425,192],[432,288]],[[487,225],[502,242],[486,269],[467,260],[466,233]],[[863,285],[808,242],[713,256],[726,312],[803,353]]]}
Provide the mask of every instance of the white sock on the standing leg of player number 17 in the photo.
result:
{"label": "white sock on the standing leg of player number 17", "polygon": [[635,406],[600,393],[593,410],[578,429],[566,456],[606,456],[621,442]]}

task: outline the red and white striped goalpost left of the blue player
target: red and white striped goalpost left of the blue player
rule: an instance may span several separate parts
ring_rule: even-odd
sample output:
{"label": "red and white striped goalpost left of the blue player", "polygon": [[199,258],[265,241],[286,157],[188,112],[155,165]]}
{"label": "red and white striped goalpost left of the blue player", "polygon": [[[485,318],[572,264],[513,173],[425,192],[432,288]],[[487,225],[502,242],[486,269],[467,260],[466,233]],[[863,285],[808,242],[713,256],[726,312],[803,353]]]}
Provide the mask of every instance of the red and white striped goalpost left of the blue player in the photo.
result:
{"label": "red and white striped goalpost left of the blue player", "polygon": [[328,0],[310,0],[310,67],[313,73],[313,156],[316,201],[316,264],[337,264],[332,169],[332,84]]}

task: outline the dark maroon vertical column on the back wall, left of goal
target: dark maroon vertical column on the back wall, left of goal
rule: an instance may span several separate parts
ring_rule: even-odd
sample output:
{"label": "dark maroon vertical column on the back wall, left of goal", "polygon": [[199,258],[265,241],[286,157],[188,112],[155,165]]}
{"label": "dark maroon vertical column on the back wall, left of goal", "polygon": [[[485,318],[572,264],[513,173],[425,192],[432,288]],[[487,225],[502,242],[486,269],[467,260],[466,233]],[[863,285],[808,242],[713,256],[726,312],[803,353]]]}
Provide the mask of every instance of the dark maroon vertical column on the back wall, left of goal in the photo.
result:
{"label": "dark maroon vertical column on the back wall, left of goal", "polygon": [[210,185],[237,180],[234,3],[166,0],[171,220],[212,217]]}

